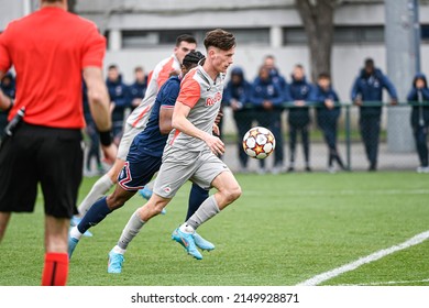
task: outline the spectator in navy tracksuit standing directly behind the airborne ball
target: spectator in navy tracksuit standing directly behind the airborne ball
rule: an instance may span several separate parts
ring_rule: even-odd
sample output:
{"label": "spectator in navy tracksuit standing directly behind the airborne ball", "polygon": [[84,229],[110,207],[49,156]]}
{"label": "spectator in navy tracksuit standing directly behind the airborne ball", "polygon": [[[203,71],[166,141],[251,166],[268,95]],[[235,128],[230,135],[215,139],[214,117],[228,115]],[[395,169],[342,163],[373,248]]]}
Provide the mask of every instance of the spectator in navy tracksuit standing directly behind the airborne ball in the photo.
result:
{"label": "spectator in navy tracksuit standing directly behind the airborne ball", "polygon": [[[267,128],[276,139],[276,150],[274,151],[274,174],[279,173],[283,168],[283,129],[282,112],[284,95],[277,84],[270,75],[270,69],[262,66],[258,76],[252,85],[251,102],[255,109],[255,120],[258,125]],[[258,173],[265,173],[265,161],[260,161],[261,169]]]}

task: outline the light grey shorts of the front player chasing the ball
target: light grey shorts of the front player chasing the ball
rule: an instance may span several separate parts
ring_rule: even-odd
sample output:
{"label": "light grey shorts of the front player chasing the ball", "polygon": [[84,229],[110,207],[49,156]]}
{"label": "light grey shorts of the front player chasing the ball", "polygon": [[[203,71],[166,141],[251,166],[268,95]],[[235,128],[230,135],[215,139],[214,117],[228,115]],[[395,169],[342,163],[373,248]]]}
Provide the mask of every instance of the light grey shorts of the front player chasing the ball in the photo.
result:
{"label": "light grey shorts of the front player chasing the ball", "polygon": [[168,153],[163,157],[153,191],[170,199],[189,179],[199,187],[209,189],[213,179],[222,172],[231,172],[228,166],[209,150],[185,152],[177,155]]}

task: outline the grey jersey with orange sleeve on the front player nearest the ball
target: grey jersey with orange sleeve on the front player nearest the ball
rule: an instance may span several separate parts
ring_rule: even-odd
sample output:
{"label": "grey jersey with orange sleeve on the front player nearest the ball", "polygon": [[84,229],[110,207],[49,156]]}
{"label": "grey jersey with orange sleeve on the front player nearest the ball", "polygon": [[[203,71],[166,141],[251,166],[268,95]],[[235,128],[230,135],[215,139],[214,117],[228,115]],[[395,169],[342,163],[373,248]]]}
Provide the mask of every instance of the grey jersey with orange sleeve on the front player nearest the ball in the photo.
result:
{"label": "grey jersey with orange sleeve on the front player nearest the ball", "polygon": [[[212,134],[212,128],[218,116],[223,94],[224,74],[219,74],[216,80],[197,66],[186,74],[180,84],[177,101],[190,107],[187,119],[198,129]],[[200,152],[209,150],[205,141],[189,136],[178,130],[172,130],[165,152],[183,151]]]}

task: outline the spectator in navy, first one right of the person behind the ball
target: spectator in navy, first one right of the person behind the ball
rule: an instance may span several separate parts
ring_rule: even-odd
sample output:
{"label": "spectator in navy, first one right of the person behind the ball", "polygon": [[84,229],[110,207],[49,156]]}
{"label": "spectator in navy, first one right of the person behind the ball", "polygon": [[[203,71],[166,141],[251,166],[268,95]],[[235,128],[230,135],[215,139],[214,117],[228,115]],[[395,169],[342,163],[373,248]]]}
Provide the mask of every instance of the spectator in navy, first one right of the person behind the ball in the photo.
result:
{"label": "spectator in navy, first one right of the person behind the ball", "polygon": [[296,65],[292,74],[292,82],[288,87],[288,101],[290,101],[290,108],[288,110],[289,112],[287,119],[289,124],[290,151],[289,168],[287,169],[288,172],[295,170],[295,152],[298,132],[300,132],[301,134],[306,170],[311,172],[309,140],[309,125],[311,122],[309,107],[312,105],[310,101],[311,91],[312,85],[307,82],[304,73],[304,67],[299,64]]}

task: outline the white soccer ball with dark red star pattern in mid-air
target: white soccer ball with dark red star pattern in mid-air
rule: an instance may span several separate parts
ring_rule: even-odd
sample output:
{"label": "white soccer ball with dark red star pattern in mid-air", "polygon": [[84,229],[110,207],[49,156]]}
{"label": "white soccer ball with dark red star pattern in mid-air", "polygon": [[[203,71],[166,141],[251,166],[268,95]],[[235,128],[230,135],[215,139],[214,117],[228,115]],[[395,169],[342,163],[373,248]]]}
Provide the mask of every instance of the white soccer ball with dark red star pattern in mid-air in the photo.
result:
{"label": "white soccer ball with dark red star pattern in mid-air", "polygon": [[276,140],[273,133],[261,127],[250,129],[243,136],[244,152],[252,158],[264,160],[273,153]]}

